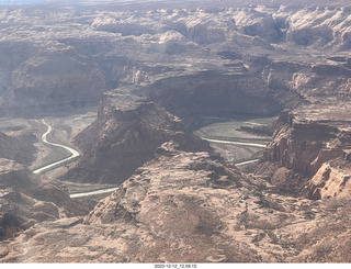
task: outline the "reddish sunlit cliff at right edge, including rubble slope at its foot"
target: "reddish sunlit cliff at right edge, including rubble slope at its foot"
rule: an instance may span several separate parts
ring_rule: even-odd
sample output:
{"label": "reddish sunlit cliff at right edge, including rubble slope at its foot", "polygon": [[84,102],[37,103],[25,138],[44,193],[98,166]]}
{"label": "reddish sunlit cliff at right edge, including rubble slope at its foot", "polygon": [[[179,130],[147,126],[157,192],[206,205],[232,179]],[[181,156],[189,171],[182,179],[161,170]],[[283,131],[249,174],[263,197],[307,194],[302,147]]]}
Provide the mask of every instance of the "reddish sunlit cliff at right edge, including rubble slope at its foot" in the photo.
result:
{"label": "reddish sunlit cliff at right edge, including rubble slope at its foot", "polygon": [[[348,175],[348,150],[351,147],[349,108],[317,108],[308,105],[281,115],[279,125],[282,127],[274,133],[262,164],[256,171],[269,177],[279,188],[299,181],[301,188],[296,193],[312,199],[338,197],[343,192],[342,182],[332,187],[331,195],[320,193],[328,189],[328,180],[335,181],[335,177],[343,178]],[[339,172],[338,169],[331,171],[332,164],[340,164]]]}

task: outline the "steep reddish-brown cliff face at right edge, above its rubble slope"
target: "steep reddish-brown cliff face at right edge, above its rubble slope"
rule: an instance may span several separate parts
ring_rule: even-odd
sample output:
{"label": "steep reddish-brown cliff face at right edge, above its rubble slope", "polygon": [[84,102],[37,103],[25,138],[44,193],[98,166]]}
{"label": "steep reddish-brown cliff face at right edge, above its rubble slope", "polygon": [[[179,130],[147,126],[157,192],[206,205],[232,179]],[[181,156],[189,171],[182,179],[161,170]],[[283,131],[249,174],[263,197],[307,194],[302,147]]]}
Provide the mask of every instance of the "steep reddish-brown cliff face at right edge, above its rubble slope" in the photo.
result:
{"label": "steep reddish-brown cliff face at right edge, above its rubble slope", "polygon": [[[344,195],[342,180],[343,175],[348,175],[348,157],[344,156],[351,145],[349,124],[344,121],[347,114],[347,108],[283,114],[280,120],[285,125],[273,135],[264,153],[265,159],[310,179],[307,195],[312,199]],[[340,171],[336,164],[340,164]]]}

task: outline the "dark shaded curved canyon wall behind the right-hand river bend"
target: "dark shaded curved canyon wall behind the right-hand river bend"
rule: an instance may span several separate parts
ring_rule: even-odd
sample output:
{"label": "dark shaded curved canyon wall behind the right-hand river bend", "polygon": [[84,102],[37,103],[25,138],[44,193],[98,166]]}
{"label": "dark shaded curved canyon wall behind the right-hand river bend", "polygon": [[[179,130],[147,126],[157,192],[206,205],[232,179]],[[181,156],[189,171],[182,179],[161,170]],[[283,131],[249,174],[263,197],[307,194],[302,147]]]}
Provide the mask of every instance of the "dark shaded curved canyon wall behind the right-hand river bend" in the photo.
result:
{"label": "dark shaded curved canyon wall behind the right-hand river bend", "polygon": [[152,101],[182,119],[278,113],[281,105],[274,101],[264,81],[246,72],[207,71],[160,79],[148,91]]}

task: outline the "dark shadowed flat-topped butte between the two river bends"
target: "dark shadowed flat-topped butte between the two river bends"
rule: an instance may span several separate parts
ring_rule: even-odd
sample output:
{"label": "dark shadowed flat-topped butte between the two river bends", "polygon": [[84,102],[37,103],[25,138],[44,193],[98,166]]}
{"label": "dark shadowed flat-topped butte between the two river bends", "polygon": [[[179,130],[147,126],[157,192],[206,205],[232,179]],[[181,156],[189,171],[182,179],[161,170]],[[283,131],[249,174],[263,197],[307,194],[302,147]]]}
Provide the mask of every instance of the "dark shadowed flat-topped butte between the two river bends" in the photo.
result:
{"label": "dark shadowed flat-topped butte between the two river bends", "polygon": [[158,104],[133,94],[109,92],[98,120],[76,138],[82,158],[65,178],[72,181],[121,183],[167,141],[184,150],[211,150],[185,132],[181,121]]}

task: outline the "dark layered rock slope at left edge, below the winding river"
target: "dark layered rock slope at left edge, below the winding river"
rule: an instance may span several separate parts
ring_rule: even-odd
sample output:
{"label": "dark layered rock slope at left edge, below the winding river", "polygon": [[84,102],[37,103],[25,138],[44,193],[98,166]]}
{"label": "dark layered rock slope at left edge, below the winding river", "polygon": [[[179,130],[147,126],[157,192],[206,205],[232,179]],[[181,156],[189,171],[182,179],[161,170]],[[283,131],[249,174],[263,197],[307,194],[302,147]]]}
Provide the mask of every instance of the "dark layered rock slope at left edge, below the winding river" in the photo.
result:
{"label": "dark layered rock slope at left edge, below the winding river", "polygon": [[0,159],[0,240],[38,222],[87,213],[57,181],[34,178],[23,166]]}

